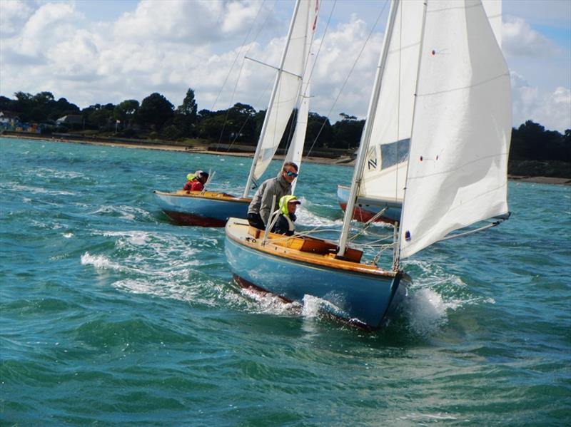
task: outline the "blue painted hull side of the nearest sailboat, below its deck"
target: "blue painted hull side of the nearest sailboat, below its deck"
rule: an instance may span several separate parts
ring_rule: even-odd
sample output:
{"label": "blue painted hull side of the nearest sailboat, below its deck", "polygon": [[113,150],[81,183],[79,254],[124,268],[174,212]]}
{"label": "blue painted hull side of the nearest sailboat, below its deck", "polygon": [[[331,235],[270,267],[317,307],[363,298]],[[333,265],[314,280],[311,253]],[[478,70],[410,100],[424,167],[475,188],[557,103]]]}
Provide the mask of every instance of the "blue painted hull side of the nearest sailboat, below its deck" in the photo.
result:
{"label": "blue painted hull side of the nearest sailboat, below its deck", "polygon": [[357,326],[382,327],[406,293],[408,276],[400,272],[379,276],[299,262],[242,245],[228,235],[228,225],[226,231],[226,257],[239,283],[290,301],[318,297],[330,303],[322,309]]}

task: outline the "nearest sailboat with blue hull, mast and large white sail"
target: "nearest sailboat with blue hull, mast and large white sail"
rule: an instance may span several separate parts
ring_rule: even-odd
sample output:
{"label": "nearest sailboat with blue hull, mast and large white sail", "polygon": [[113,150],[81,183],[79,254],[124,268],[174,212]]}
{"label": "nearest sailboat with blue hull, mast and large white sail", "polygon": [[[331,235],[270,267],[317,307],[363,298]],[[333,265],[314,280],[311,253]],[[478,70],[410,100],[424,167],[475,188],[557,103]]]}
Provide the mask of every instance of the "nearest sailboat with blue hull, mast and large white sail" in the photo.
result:
{"label": "nearest sailboat with blue hull, mast and large white sail", "polygon": [[[390,64],[412,43],[418,43],[418,66],[409,70],[415,90],[400,96]],[[383,124],[386,114],[398,115],[384,108],[391,96],[408,104],[410,129],[398,119],[389,128]],[[410,282],[402,259],[507,218],[510,97],[507,65],[480,0],[393,0],[339,240],[275,235],[230,218],[226,256],[236,282],[288,301],[318,297],[325,312],[365,329],[385,325]],[[363,252],[348,247],[353,207],[380,130],[393,141],[410,137],[388,268],[376,259],[363,262]]]}

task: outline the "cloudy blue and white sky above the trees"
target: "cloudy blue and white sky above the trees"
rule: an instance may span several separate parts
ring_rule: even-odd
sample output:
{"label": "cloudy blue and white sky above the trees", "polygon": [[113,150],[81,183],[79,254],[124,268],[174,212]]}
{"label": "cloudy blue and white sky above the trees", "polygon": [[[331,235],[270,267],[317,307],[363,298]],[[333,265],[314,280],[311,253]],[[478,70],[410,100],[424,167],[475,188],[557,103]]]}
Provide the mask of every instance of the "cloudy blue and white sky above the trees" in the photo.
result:
{"label": "cloudy blue and white sky above the trees", "polygon": [[[405,0],[417,1],[417,0]],[[0,0],[0,95],[49,91],[80,108],[158,92],[198,110],[267,108],[293,0]],[[389,4],[322,0],[310,110],[363,118]],[[571,1],[504,0],[513,125],[571,128]]]}

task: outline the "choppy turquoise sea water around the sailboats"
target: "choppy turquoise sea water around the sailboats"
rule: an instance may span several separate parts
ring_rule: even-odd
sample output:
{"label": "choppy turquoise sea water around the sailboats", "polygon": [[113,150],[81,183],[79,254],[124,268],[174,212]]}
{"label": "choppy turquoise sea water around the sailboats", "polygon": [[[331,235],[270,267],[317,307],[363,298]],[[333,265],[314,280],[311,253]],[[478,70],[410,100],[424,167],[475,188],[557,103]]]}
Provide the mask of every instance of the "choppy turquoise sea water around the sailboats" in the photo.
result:
{"label": "choppy turquoise sea water around the sailboats", "polygon": [[[368,334],[241,292],[223,229],[153,201],[199,168],[239,193],[248,159],[7,138],[0,155],[2,425],[571,423],[570,187],[510,182],[512,218],[405,261],[403,314]],[[303,165],[299,227],[339,230],[350,174]]]}

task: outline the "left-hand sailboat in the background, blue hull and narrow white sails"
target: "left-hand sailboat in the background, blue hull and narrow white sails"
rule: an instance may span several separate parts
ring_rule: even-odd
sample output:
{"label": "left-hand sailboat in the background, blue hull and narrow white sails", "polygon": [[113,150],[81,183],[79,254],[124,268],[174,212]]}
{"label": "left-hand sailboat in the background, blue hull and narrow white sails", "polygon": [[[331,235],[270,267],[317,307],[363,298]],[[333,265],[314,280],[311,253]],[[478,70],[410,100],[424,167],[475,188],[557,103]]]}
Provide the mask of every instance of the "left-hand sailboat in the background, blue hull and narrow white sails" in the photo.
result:
{"label": "left-hand sailboat in the background, blue hull and narrow white sails", "polygon": [[[318,18],[318,0],[295,3],[285,48],[264,118],[256,153],[243,195],[216,191],[154,191],[158,205],[183,225],[223,227],[229,217],[246,218],[251,185],[257,183],[271,163],[294,108],[295,132],[285,161],[300,165],[308,118],[310,47]],[[292,190],[293,191],[293,190]]]}

